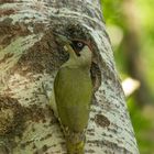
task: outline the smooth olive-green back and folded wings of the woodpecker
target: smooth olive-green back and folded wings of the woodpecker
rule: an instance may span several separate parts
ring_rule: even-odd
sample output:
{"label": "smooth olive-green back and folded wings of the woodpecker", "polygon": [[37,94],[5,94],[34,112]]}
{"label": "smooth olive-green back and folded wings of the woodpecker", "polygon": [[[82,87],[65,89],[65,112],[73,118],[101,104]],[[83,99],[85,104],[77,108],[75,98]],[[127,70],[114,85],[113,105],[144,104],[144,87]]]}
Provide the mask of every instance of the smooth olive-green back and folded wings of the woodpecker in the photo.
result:
{"label": "smooth olive-green back and folded wings of the woodpecker", "polygon": [[91,79],[88,70],[62,67],[54,87],[63,125],[75,132],[86,129],[91,101]]}

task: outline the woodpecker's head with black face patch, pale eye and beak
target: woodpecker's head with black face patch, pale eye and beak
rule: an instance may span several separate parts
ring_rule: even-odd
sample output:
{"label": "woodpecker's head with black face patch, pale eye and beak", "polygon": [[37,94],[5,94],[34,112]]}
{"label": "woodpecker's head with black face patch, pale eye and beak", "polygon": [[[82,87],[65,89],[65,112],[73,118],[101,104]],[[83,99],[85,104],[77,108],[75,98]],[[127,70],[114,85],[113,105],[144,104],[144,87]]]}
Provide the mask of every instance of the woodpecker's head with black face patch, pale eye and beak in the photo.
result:
{"label": "woodpecker's head with black face patch, pale eye and beak", "polygon": [[91,65],[92,50],[90,42],[79,38],[67,38],[59,34],[56,34],[56,40],[69,53],[68,62],[77,63],[78,65]]}

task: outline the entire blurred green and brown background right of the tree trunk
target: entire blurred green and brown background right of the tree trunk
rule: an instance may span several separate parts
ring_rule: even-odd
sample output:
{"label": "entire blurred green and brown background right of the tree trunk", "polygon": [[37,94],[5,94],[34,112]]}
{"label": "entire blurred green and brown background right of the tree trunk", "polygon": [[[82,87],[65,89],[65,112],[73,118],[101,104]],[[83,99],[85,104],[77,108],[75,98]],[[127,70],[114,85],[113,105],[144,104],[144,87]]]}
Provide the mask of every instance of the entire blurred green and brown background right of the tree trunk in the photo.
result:
{"label": "entire blurred green and brown background right of the tree trunk", "polygon": [[101,0],[141,154],[154,154],[154,0]]}

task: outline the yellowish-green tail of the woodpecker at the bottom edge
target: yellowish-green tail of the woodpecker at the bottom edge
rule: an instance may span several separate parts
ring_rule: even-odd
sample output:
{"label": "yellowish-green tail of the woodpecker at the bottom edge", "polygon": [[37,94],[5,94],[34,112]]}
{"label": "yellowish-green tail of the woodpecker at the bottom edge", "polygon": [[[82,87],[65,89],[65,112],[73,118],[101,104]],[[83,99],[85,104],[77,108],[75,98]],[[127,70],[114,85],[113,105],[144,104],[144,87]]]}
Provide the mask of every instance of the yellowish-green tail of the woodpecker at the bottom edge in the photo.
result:
{"label": "yellowish-green tail of the woodpecker at the bottom edge", "polygon": [[69,133],[66,138],[68,154],[85,154],[85,133]]}

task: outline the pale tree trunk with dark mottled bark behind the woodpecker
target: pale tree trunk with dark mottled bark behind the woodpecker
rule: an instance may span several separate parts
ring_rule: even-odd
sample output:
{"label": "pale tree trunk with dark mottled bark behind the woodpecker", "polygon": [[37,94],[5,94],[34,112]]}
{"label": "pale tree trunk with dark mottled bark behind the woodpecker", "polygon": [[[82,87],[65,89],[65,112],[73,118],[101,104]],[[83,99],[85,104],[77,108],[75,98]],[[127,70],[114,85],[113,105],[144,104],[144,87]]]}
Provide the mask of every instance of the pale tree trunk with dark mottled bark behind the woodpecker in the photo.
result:
{"label": "pale tree trunk with dark mottled bark behind the woodpecker", "polygon": [[86,153],[138,154],[99,0],[0,0],[0,153],[66,153],[48,96],[68,55],[53,31],[92,44]]}

